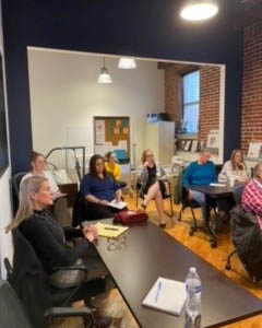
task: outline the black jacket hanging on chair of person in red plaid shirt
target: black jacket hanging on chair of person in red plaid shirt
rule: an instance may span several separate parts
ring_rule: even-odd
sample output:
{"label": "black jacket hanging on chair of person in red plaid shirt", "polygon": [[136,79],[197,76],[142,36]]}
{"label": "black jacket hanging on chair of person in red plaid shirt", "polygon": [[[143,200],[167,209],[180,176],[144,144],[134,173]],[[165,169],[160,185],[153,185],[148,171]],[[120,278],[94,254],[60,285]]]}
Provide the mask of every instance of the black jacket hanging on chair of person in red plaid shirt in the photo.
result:
{"label": "black jacket hanging on chair of person in red plaid shirt", "polygon": [[246,212],[241,206],[231,210],[231,238],[251,278],[262,279],[262,231],[257,216]]}

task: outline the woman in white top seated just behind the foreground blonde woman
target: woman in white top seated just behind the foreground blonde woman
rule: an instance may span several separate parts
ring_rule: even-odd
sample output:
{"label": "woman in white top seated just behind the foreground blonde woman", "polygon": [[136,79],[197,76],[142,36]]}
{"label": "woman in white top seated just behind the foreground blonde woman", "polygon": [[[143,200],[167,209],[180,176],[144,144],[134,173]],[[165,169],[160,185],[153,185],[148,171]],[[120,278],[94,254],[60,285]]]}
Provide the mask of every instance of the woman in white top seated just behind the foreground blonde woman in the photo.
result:
{"label": "woman in white top seated just behind the foreground blonde woman", "polygon": [[52,192],[53,216],[62,226],[71,225],[71,219],[68,210],[67,199],[63,197],[66,195],[61,194],[61,191],[59,190],[58,185],[52,177],[52,174],[49,171],[46,171],[45,156],[40,153],[33,151],[31,154],[29,162],[31,162],[32,169],[25,176],[23,176],[21,184],[23,184],[23,181],[31,176],[36,175],[36,176],[45,177],[48,180],[48,184]]}

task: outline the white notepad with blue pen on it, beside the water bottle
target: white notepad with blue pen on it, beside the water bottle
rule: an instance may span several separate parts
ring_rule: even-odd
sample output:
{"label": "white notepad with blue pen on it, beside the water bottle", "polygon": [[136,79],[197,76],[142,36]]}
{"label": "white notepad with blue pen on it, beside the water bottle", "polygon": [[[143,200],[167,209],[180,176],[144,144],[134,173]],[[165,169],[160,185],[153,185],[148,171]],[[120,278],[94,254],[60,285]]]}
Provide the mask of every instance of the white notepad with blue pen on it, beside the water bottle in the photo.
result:
{"label": "white notepad with blue pen on it, beside the water bottle", "polygon": [[183,282],[159,277],[143,300],[142,305],[180,315],[186,296]]}

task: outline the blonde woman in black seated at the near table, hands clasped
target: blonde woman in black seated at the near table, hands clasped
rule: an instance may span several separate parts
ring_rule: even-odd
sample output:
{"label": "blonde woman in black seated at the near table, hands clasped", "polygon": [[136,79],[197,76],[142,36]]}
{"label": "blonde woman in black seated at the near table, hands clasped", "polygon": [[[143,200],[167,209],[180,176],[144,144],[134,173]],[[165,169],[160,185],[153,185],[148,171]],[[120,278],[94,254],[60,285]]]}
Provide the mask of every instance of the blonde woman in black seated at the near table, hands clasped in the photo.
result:
{"label": "blonde woman in black seated at the near table, hands clasped", "polygon": [[[39,176],[26,178],[21,186],[19,211],[14,221],[7,226],[7,233],[14,229],[21,231],[32,244],[55,288],[71,288],[83,280],[79,273],[75,276],[72,271],[58,270],[59,267],[85,263],[88,270],[87,280],[108,277],[107,269],[92,245],[96,239],[96,229],[94,226],[82,230],[62,229],[46,210],[51,204],[52,192],[48,180]],[[69,247],[66,244],[69,237],[83,237],[83,239],[76,246]],[[111,318],[99,319],[102,319],[102,327],[109,326],[111,321]]]}

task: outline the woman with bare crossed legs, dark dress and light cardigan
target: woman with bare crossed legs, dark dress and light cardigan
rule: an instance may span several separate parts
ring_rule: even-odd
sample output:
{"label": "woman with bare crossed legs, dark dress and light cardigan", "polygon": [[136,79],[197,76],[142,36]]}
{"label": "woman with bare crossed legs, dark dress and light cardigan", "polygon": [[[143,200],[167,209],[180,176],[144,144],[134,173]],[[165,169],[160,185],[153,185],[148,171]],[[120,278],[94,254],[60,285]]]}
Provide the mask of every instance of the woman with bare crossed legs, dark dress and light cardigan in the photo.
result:
{"label": "woman with bare crossed legs, dark dress and light cardigan", "polygon": [[165,186],[160,184],[157,179],[165,176],[165,171],[160,167],[157,167],[153,152],[150,149],[143,151],[142,154],[142,164],[143,167],[138,177],[138,183],[140,183],[142,196],[144,200],[142,202],[142,208],[146,209],[148,202],[154,199],[157,213],[159,215],[159,226],[166,227],[166,218],[164,214],[164,201],[163,194]]}

